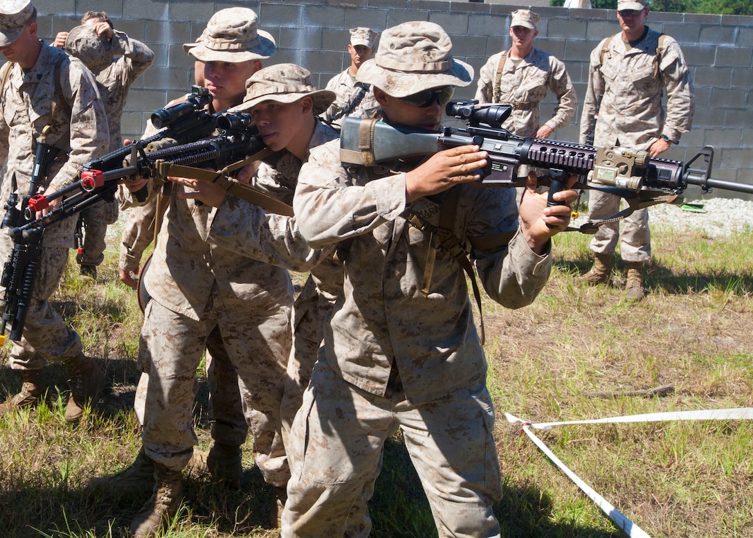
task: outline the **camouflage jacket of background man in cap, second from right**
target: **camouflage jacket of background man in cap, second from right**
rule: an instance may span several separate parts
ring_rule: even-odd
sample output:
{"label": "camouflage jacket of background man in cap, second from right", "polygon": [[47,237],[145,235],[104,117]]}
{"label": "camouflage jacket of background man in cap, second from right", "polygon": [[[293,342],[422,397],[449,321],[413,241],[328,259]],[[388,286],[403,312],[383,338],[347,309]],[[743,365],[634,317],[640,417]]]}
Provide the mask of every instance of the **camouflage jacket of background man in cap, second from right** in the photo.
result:
{"label": "camouflage jacket of background man in cap, second from right", "polygon": [[575,89],[565,64],[536,47],[516,63],[505,57],[505,66],[497,81],[497,68],[504,53],[496,53],[480,69],[475,99],[513,105],[510,118],[502,124],[518,136],[535,136],[540,127],[538,105],[551,91],[558,105],[545,122],[553,131],[570,123],[575,115]]}

